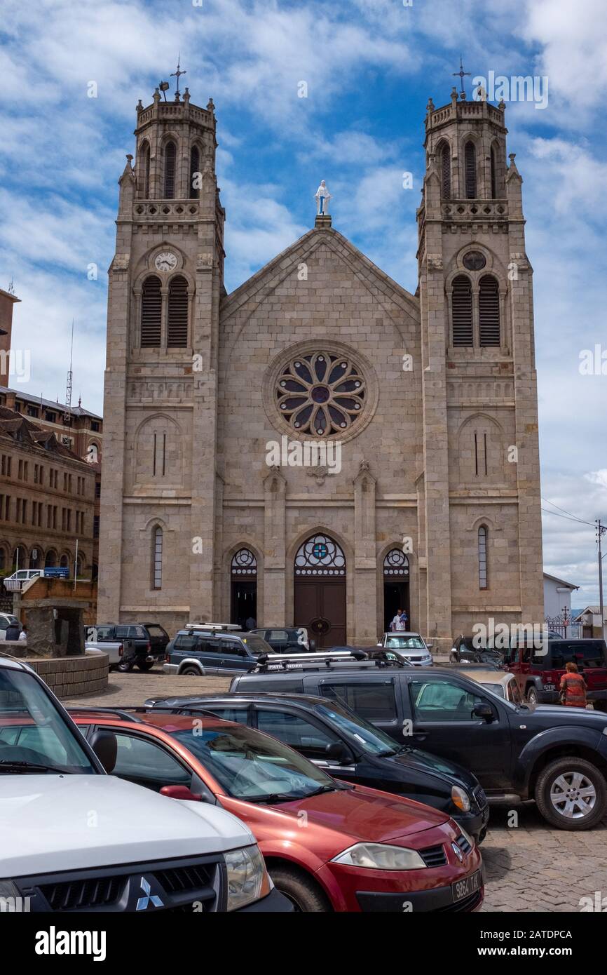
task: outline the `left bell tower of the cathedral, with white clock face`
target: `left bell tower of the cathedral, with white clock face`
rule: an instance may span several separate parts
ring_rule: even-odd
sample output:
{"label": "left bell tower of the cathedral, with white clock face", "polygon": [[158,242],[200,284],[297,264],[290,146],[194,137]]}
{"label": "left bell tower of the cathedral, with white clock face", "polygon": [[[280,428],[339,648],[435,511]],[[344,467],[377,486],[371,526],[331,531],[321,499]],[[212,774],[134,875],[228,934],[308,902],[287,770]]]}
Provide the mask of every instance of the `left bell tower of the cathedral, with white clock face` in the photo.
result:
{"label": "left bell tower of the cathedral, with white clock face", "polygon": [[171,100],[139,101],[134,136],[109,269],[98,618],[145,611],[171,629],[213,610],[225,212],[212,99],[181,96],[177,76]]}

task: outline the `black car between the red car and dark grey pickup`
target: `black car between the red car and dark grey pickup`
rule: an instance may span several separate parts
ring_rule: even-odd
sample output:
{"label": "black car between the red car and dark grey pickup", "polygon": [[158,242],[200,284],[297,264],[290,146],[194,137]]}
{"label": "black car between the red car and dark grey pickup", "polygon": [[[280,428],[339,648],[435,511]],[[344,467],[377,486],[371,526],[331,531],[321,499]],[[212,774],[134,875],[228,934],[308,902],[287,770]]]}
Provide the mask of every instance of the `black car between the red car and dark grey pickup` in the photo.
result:
{"label": "black car between the red car and dark grey pickup", "polygon": [[476,842],[487,832],[489,802],[465,768],[397,744],[337,701],[303,694],[203,694],[148,698],[146,707],[210,712],[265,731],[329,775],[424,802],[455,819]]}

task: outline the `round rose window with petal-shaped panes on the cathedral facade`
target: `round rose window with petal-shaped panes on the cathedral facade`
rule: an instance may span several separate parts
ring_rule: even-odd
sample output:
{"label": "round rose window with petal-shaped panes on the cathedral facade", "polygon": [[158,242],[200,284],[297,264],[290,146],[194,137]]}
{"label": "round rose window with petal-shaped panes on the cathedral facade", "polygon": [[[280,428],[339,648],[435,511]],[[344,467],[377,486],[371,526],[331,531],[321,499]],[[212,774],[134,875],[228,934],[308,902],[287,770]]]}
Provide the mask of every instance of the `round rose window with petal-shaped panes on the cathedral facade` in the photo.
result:
{"label": "round rose window with petal-shaped panes on the cathedral facade", "polygon": [[291,359],[276,384],[276,402],[299,433],[331,437],[346,433],[365,405],[364,377],[346,356],[328,352]]}

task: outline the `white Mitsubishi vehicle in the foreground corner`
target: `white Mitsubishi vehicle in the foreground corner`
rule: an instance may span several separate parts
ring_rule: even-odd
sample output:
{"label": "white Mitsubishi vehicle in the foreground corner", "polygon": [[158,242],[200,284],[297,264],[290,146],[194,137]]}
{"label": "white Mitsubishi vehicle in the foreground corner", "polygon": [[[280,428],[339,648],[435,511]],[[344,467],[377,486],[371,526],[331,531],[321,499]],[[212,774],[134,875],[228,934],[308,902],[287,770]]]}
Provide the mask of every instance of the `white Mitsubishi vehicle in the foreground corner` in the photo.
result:
{"label": "white Mitsubishi vehicle in the foreground corner", "polygon": [[0,912],[292,910],[244,823],[106,774],[115,751],[0,656]]}

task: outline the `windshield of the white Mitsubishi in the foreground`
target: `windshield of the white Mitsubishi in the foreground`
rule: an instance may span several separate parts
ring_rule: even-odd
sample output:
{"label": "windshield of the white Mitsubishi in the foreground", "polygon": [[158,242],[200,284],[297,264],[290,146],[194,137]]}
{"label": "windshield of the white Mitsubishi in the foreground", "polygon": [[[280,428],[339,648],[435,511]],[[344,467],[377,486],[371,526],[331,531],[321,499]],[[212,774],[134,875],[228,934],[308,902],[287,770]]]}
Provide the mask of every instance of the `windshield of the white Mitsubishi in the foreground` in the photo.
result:
{"label": "windshield of the white Mitsubishi in the foreground", "polygon": [[0,774],[98,774],[53,698],[31,674],[0,668]]}

